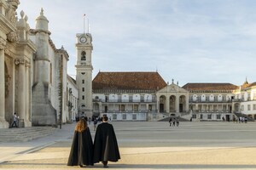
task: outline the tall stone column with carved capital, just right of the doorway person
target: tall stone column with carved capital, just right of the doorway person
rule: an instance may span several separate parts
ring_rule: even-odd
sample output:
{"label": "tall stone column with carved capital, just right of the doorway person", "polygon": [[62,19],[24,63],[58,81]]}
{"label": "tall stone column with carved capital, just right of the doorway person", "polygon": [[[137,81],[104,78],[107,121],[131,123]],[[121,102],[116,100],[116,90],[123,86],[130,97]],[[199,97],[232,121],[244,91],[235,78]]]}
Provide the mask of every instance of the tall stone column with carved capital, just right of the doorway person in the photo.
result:
{"label": "tall stone column with carved capital, just right of the doorway person", "polygon": [[20,127],[25,127],[26,120],[26,76],[25,61],[17,59],[16,64],[19,66],[18,81],[18,116],[20,116]]}

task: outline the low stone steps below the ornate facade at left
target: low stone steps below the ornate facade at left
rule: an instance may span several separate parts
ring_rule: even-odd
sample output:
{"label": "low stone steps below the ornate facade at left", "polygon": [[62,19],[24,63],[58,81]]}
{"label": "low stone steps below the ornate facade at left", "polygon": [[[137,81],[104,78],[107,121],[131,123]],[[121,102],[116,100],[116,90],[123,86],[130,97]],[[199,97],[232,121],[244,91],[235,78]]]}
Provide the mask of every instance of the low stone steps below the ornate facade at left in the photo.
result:
{"label": "low stone steps below the ornate facade at left", "polygon": [[13,127],[0,129],[0,142],[26,142],[48,136],[55,127]]}

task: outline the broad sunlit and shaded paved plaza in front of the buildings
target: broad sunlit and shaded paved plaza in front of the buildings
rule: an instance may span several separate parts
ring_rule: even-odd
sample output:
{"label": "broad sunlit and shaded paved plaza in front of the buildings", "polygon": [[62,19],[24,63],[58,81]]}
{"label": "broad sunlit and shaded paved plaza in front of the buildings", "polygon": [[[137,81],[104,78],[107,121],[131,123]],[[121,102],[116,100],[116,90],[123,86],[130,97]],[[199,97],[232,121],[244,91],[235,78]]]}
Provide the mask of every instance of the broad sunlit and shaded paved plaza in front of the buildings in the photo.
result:
{"label": "broad sunlit and shaded paved plaza in front of the buildings", "polygon": [[[109,169],[256,169],[256,122],[111,122],[121,160]],[[0,143],[0,168],[67,167],[75,123],[42,139]],[[93,125],[90,132],[94,138]],[[95,164],[87,169],[103,169]]]}

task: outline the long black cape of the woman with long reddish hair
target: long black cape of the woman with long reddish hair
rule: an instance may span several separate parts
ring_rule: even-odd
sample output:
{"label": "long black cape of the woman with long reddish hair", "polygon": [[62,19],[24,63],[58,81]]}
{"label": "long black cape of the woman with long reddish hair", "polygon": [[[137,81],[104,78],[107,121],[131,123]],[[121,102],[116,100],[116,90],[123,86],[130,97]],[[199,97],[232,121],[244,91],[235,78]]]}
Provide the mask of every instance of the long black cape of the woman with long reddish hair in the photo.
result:
{"label": "long black cape of the woman with long reddish hair", "polygon": [[73,135],[67,166],[93,165],[93,143],[89,127],[82,133],[77,131]]}

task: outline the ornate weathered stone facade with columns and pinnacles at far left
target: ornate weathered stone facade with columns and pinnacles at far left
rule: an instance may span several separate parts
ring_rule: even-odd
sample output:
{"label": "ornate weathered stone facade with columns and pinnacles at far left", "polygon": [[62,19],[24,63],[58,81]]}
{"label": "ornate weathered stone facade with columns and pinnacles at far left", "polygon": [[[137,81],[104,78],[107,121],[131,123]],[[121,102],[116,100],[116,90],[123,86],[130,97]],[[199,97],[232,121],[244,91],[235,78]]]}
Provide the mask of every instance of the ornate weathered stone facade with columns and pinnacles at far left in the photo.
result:
{"label": "ornate weathered stone facade with columns and pinnacles at far left", "polygon": [[0,128],[9,127],[15,112],[20,127],[56,126],[71,118],[68,54],[50,39],[43,9],[31,29],[23,11],[16,15],[19,3],[0,0]]}

